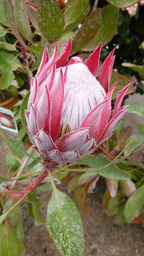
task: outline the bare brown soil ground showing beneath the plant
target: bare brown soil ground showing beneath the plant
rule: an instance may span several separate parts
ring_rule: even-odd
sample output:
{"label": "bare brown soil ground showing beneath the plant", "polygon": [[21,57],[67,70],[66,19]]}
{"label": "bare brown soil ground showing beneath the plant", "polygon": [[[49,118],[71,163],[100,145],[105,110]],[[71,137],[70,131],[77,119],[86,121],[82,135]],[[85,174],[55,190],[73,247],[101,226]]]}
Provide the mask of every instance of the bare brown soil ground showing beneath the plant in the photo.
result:
{"label": "bare brown soil ground showing beneath the plant", "polygon": [[[4,133],[8,138],[16,138],[16,134],[8,131]],[[2,175],[7,173],[5,161],[7,152],[6,144],[0,136],[0,173]],[[64,181],[57,188],[68,194]],[[109,217],[102,210],[102,197],[105,189],[105,180],[102,179],[94,194],[88,195],[90,214],[79,211],[85,239],[83,256],[144,256],[144,228],[140,224],[116,226],[114,216]],[[41,201],[39,212],[44,222],[46,222],[47,205],[51,194],[52,191],[36,192],[36,196]],[[73,200],[73,194],[68,194],[68,196]],[[22,205],[22,211],[26,256],[61,256],[48,234],[46,224],[35,226],[34,219],[28,215],[25,204]]]}

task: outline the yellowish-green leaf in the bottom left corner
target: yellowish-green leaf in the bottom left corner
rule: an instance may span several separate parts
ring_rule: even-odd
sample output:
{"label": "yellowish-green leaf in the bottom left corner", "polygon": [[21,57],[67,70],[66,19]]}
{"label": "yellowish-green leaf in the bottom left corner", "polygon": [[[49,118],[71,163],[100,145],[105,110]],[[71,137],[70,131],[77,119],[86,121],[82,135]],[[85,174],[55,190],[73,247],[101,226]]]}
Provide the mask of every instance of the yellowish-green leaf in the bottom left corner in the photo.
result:
{"label": "yellowish-green leaf in the bottom left corner", "polygon": [[24,244],[14,236],[13,229],[5,223],[0,230],[0,255],[25,256],[25,253]]}

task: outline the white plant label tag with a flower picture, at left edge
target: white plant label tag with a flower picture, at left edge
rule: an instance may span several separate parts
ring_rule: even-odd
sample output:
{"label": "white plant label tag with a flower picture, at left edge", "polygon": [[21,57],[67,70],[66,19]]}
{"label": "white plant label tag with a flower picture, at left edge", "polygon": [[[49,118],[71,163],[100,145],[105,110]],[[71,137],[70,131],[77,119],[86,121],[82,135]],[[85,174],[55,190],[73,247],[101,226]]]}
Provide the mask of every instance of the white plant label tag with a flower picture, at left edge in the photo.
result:
{"label": "white plant label tag with a flower picture, at left edge", "polygon": [[11,110],[0,107],[0,127],[18,133],[16,121]]}

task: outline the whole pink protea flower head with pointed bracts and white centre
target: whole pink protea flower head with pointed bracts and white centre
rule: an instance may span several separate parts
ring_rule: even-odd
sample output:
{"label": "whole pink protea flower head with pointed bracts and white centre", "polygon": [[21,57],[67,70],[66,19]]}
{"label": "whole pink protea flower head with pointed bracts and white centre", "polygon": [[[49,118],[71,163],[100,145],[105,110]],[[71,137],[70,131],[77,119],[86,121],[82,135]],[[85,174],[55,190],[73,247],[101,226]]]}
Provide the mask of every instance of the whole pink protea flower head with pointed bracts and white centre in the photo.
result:
{"label": "whole pink protea flower head with pointed bracts and white centre", "polygon": [[70,49],[69,38],[60,56],[56,59],[56,45],[49,60],[45,47],[38,72],[31,78],[25,110],[34,148],[54,163],[76,162],[94,152],[112,135],[110,132],[128,108],[120,105],[129,85],[119,92],[111,111],[111,96],[117,84],[109,90],[114,50],[96,77],[101,43],[85,63],[79,57],[68,62]]}

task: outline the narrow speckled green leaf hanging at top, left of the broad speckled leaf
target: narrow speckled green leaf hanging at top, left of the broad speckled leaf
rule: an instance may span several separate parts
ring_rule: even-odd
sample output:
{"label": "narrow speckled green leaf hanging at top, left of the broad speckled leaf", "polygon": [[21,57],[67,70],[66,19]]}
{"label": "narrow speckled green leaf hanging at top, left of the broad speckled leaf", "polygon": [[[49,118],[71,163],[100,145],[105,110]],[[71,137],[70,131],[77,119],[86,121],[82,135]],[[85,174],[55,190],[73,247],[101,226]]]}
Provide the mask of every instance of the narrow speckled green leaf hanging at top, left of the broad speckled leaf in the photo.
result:
{"label": "narrow speckled green leaf hanging at top, left of the broad speckled leaf", "polygon": [[30,28],[28,10],[27,10],[25,0],[20,0],[20,1],[14,0],[13,6],[14,6],[14,18],[16,21],[16,25],[18,26],[18,29],[20,30],[24,38],[26,38],[28,42],[33,44],[32,31]]}

